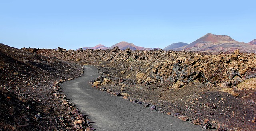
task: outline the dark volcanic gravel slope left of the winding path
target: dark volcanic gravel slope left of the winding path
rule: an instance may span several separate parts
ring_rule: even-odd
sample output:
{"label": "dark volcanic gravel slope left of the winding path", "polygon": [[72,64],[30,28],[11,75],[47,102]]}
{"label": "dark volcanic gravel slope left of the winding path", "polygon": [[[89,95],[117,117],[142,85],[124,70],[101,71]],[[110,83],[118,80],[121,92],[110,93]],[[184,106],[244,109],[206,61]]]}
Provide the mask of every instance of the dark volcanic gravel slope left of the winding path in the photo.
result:
{"label": "dark volcanic gravel slope left of the winding path", "polygon": [[[0,64],[1,131],[72,131],[88,126],[58,86],[80,76],[81,65],[3,44]],[[84,123],[75,123],[76,119]]]}

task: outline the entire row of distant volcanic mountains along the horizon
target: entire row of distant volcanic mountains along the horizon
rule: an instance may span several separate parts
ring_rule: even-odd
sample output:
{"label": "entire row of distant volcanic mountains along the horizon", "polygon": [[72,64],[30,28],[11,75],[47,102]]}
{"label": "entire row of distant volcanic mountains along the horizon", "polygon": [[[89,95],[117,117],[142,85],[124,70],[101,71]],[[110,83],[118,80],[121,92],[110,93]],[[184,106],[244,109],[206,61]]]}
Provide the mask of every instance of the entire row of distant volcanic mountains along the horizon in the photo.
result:
{"label": "entire row of distant volcanic mountains along the horizon", "polygon": [[[120,50],[126,50],[130,48],[131,50],[154,50],[160,48],[145,48],[136,46],[133,43],[128,43],[125,41],[116,43],[111,47],[106,47],[104,45],[96,45],[95,47],[83,47],[82,49],[112,49],[118,47]],[[249,43],[238,42],[232,39],[228,35],[214,35],[207,33],[206,35],[200,37],[196,41],[190,44],[178,42],[168,45],[163,48],[163,50],[173,50],[173,51],[204,51],[204,52],[216,52],[216,51],[228,51],[233,52],[239,49],[241,52],[256,53],[256,39],[250,41]]]}

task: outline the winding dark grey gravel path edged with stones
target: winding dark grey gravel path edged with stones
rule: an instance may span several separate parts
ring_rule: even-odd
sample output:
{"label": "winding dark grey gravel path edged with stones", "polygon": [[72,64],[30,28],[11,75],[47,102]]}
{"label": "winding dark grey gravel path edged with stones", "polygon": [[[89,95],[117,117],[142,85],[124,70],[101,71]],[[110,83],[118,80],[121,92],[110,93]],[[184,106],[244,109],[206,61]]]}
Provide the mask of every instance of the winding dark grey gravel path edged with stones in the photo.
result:
{"label": "winding dark grey gravel path edged with stones", "polygon": [[67,81],[63,92],[89,119],[97,131],[201,131],[202,127],[133,104],[118,96],[92,88],[97,68],[84,66],[84,76]]}

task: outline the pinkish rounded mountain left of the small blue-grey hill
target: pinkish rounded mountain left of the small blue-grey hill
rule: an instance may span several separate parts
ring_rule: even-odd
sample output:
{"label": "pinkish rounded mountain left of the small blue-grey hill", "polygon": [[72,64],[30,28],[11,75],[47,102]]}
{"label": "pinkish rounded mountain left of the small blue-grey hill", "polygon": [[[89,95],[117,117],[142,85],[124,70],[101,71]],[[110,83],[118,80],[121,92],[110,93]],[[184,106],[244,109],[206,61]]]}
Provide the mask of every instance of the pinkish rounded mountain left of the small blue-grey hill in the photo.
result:
{"label": "pinkish rounded mountain left of the small blue-grey hill", "polygon": [[126,50],[127,48],[130,48],[131,50],[154,50],[154,49],[160,49],[160,48],[145,48],[145,47],[137,47],[133,43],[128,43],[125,41],[119,42],[115,45],[112,45],[108,49],[112,49],[114,47],[118,47],[120,50]]}

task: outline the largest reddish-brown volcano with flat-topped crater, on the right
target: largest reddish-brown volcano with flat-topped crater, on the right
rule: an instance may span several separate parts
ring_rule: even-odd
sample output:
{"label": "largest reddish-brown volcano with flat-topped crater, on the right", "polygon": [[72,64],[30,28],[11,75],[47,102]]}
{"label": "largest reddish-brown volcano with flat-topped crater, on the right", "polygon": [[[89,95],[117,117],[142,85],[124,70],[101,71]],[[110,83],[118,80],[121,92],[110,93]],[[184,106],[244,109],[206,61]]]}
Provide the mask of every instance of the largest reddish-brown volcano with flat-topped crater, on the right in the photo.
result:
{"label": "largest reddish-brown volcano with flat-topped crater, on the right", "polygon": [[213,35],[208,33],[187,45],[182,51],[229,51],[239,49],[241,52],[256,52],[256,47],[244,42],[238,42],[227,35]]}

